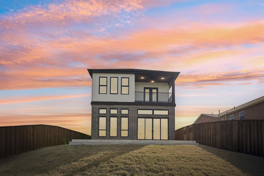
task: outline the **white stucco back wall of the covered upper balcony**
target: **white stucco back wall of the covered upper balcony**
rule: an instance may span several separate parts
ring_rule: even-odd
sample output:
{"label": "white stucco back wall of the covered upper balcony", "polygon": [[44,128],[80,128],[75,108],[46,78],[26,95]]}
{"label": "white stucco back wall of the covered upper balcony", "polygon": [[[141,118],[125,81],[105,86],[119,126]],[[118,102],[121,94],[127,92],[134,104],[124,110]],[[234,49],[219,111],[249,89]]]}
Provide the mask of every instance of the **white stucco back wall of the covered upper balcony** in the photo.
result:
{"label": "white stucco back wall of the covered upper balcony", "polygon": [[157,87],[158,92],[169,93],[168,83],[135,82],[135,91],[144,92],[144,87]]}

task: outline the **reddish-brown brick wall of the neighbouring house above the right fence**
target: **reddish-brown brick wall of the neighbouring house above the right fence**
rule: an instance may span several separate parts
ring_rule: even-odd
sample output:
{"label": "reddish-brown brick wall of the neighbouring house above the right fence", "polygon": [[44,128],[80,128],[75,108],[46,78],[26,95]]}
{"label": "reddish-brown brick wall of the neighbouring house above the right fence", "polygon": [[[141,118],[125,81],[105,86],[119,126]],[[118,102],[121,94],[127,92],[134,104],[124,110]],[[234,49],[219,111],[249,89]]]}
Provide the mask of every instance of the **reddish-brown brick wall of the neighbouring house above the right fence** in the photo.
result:
{"label": "reddish-brown brick wall of the neighbouring house above the right fence", "polygon": [[229,116],[234,114],[234,120],[239,120],[239,112],[244,111],[245,120],[264,120],[264,102],[260,102],[253,106],[249,106],[244,109],[239,109],[231,113],[226,113],[220,117],[212,117],[207,115],[201,115],[200,118],[195,123],[205,123],[212,121],[221,121],[221,118],[224,117],[224,120],[229,120]]}

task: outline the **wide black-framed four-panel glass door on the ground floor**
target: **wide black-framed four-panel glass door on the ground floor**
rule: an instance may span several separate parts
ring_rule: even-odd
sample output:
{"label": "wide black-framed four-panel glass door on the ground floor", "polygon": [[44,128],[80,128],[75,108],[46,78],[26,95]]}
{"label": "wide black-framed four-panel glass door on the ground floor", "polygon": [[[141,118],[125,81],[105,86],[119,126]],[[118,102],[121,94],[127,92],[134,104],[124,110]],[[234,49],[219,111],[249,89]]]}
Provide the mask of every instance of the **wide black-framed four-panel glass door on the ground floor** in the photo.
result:
{"label": "wide black-framed four-panel glass door on the ground floor", "polygon": [[138,139],[168,140],[168,119],[138,118]]}

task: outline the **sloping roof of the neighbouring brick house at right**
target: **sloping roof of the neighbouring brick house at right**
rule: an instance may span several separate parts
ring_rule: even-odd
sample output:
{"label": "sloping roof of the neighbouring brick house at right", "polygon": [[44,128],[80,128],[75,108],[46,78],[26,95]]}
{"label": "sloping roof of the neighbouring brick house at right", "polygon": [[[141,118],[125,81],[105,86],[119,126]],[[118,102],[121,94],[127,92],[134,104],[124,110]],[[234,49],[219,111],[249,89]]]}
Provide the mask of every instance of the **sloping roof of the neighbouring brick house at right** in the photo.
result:
{"label": "sloping roof of the neighbouring brick house at right", "polygon": [[261,102],[264,102],[264,96],[262,97],[259,97],[257,99],[254,99],[252,101],[248,101],[244,104],[241,104],[239,106],[236,106],[235,108],[232,108],[232,109],[229,109],[227,111],[223,111],[221,112],[220,114],[200,114],[200,116],[193,122],[193,123],[196,123],[196,121],[198,121],[198,119],[202,116],[202,115],[206,115],[206,116],[211,116],[211,117],[217,117],[217,118],[221,118],[222,116],[225,116],[227,114],[231,114],[232,112],[235,112],[235,111],[238,111],[239,109],[245,109],[249,106],[253,106],[255,104],[258,104],[258,103],[261,103]]}

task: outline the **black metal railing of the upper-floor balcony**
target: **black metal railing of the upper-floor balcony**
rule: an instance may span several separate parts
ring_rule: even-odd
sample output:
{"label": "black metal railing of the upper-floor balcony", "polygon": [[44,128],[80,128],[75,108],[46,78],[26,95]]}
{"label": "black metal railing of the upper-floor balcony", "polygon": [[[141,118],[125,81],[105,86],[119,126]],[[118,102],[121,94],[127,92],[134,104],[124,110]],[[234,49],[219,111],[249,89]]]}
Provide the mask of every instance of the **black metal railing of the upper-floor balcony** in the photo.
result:
{"label": "black metal railing of the upper-floor balcony", "polygon": [[135,101],[172,102],[172,93],[163,92],[135,92]]}

